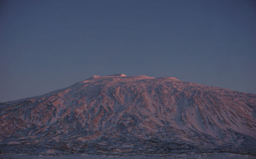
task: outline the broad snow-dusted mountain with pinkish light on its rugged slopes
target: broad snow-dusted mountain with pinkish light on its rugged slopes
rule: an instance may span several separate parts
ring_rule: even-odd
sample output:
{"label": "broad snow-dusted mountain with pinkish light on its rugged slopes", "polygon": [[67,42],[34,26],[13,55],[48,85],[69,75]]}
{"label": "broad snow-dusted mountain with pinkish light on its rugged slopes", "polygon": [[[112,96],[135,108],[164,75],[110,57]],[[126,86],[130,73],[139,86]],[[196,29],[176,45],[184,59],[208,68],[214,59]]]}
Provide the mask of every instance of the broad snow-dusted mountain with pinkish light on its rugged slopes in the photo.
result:
{"label": "broad snow-dusted mountain with pinkish light on its rugged slopes", "polygon": [[174,77],[92,76],[0,103],[0,153],[256,155],[256,95]]}

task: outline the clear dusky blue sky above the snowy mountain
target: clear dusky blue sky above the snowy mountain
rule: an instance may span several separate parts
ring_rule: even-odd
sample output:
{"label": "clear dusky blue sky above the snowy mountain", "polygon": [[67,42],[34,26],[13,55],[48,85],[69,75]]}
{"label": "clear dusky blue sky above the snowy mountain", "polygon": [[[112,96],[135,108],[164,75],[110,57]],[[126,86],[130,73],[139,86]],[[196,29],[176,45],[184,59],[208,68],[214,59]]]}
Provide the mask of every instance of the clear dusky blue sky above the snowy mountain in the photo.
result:
{"label": "clear dusky blue sky above the snowy mountain", "polygon": [[116,73],[256,94],[256,1],[0,1],[0,102]]}

